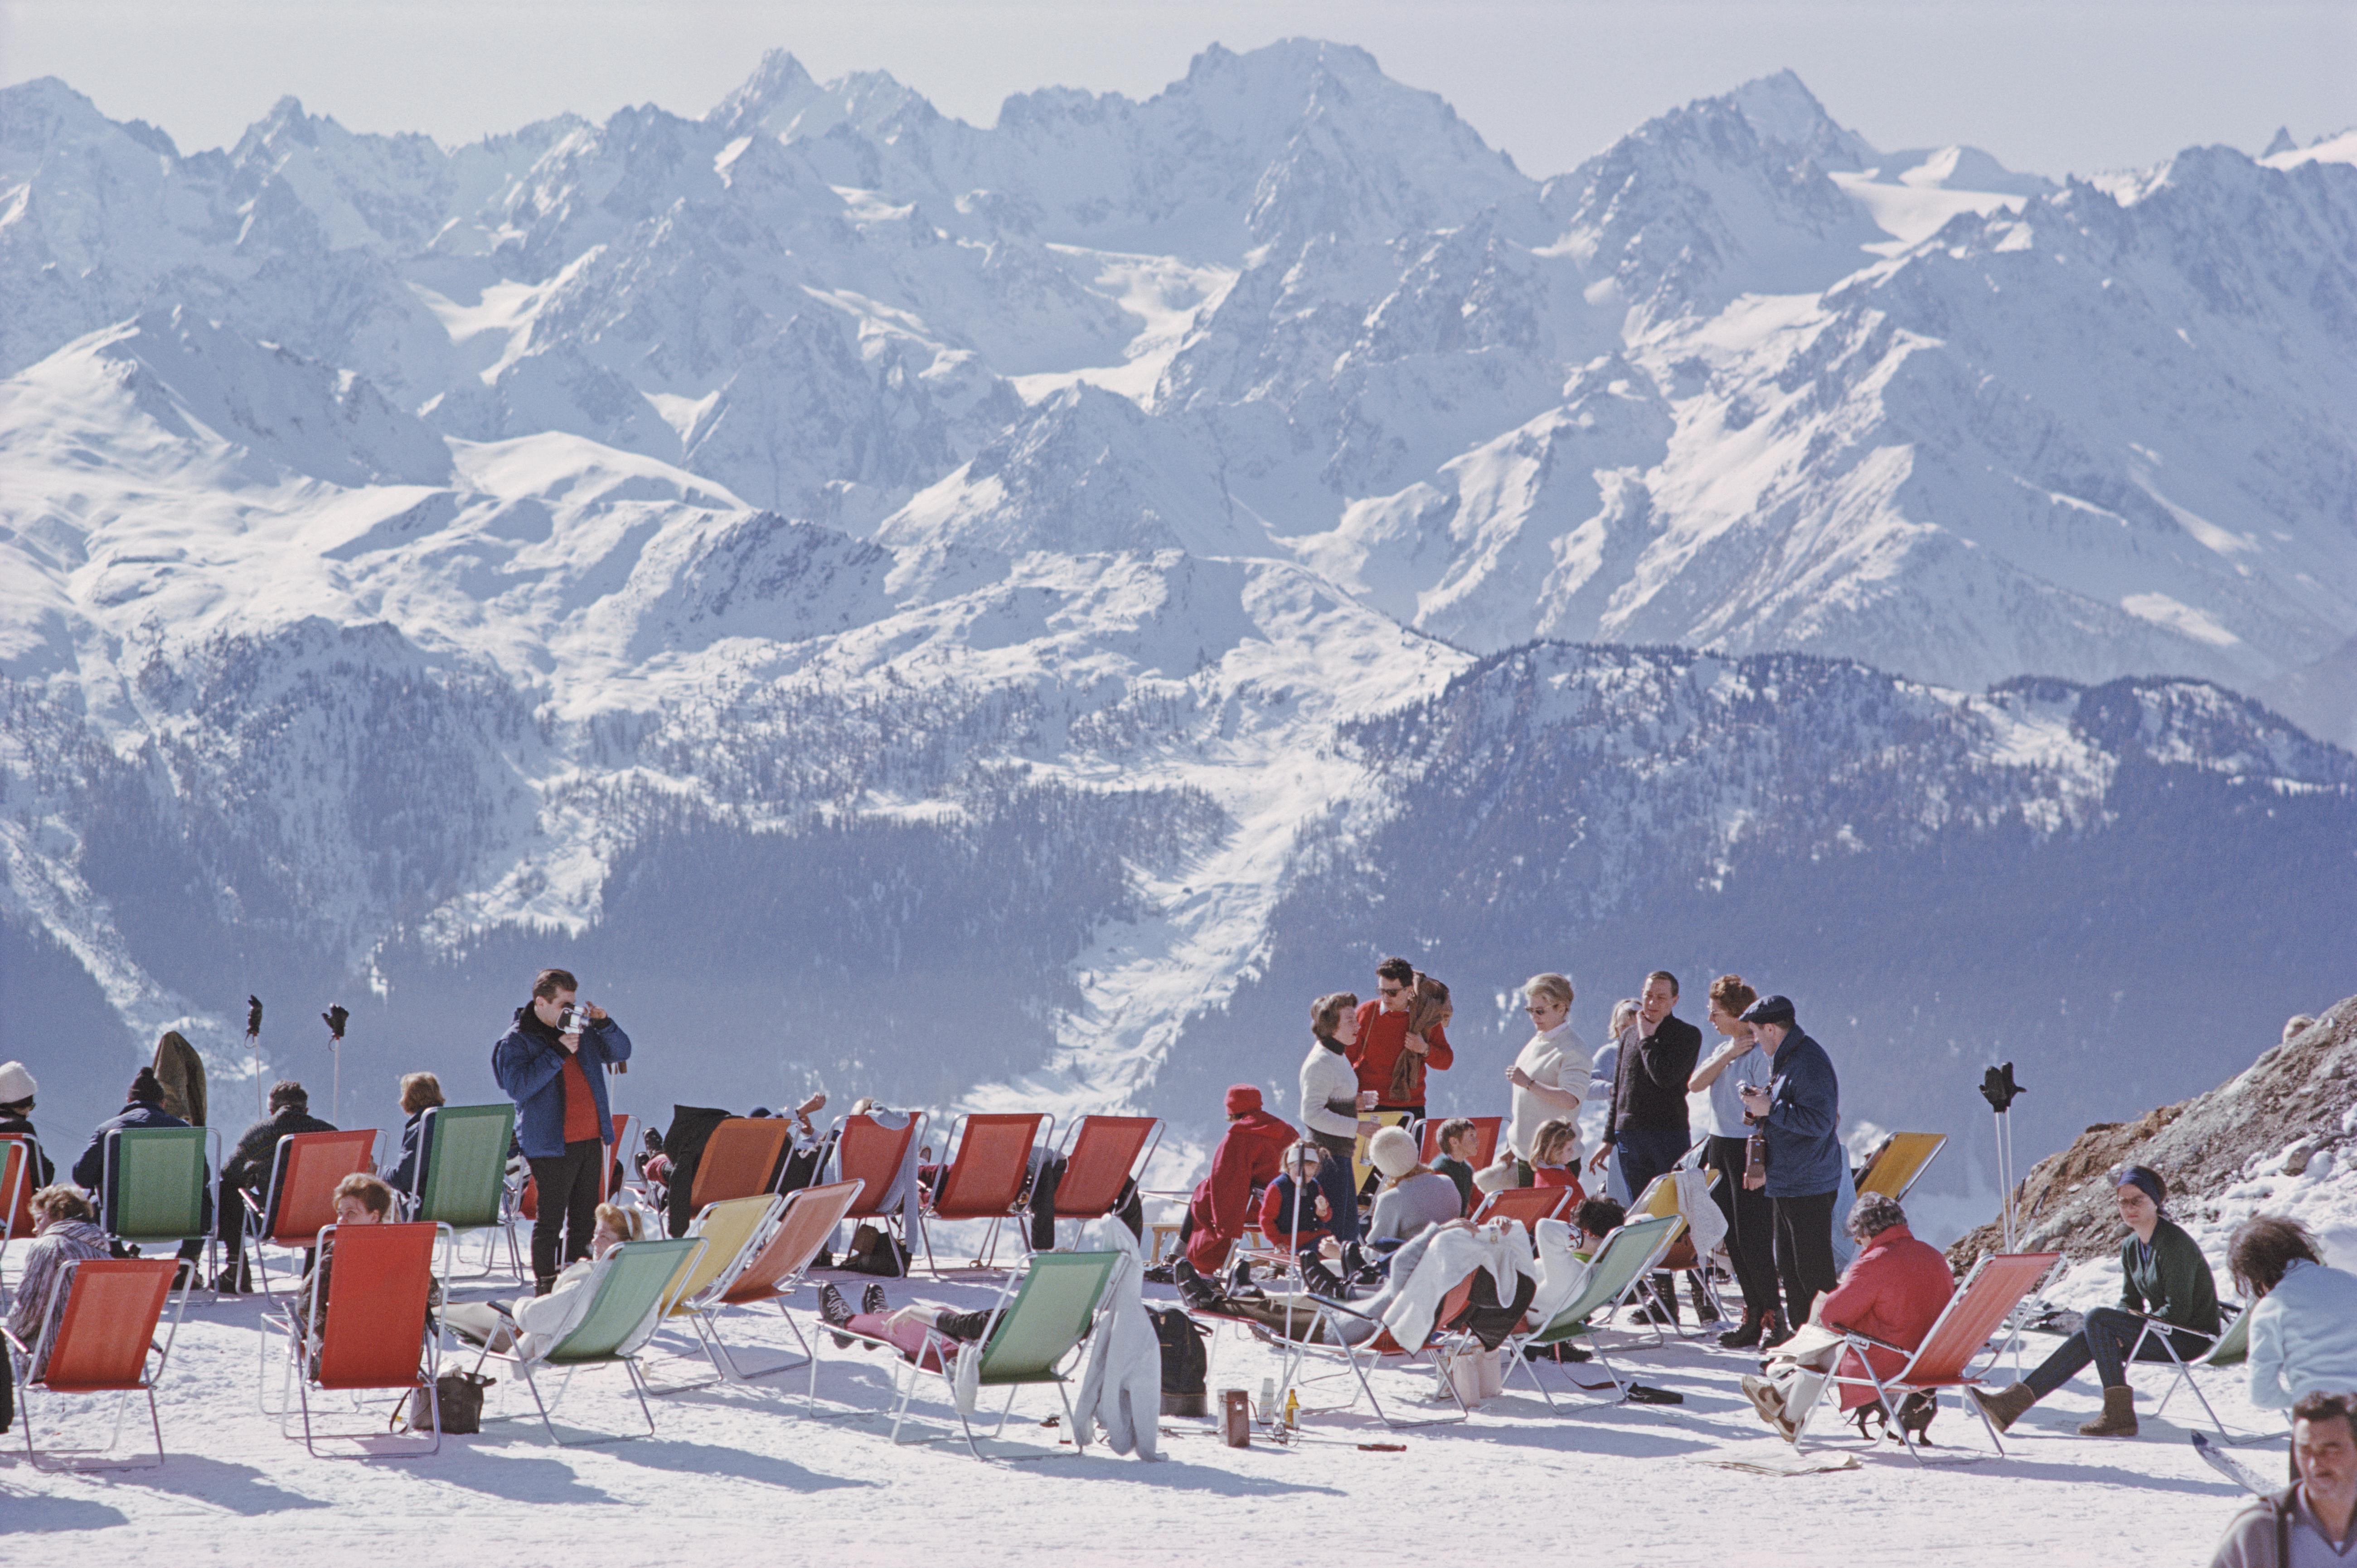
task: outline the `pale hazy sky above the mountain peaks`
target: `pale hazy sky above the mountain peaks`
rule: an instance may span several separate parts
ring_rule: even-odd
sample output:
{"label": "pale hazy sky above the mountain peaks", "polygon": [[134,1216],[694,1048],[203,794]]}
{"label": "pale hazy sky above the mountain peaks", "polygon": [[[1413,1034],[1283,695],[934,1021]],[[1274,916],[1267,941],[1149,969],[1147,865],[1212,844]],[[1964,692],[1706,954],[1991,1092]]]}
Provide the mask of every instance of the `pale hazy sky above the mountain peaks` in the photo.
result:
{"label": "pale hazy sky above the mountain peaks", "polygon": [[787,47],[990,123],[1009,92],[1143,97],[1214,40],[1285,35],[1365,45],[1532,174],[1782,66],[1883,149],[1970,141],[2046,174],[2357,125],[2357,0],[0,0],[0,83],[61,75],[184,151],[280,94],[469,141],[559,111],[702,113]]}

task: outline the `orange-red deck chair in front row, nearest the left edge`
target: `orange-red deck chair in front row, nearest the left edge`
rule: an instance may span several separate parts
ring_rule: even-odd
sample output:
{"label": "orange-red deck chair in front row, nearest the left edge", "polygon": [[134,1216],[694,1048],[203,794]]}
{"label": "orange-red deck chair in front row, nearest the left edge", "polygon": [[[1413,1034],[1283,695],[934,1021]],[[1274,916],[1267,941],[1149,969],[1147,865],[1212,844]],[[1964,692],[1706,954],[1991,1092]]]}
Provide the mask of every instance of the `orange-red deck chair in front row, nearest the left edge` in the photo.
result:
{"label": "orange-red deck chair in front row, nearest the left edge", "polygon": [[[85,1259],[66,1264],[49,1287],[42,1311],[45,1332],[26,1344],[7,1335],[9,1363],[16,1377],[16,1419],[24,1422],[24,1452],[35,1469],[151,1469],[146,1464],[108,1462],[123,1438],[123,1410],[132,1394],[146,1394],[148,1429],[156,1434],[156,1464],[163,1464],[163,1422],[156,1415],[156,1375],[165,1353],[156,1344],[165,1297],[172,1294],[174,1261],[170,1257]],[[59,1294],[64,1306],[59,1309]],[[189,1292],[179,1292],[181,1311]],[[179,1323],[174,1318],[172,1327]],[[0,1330],[5,1332],[5,1330]],[[35,1349],[40,1346],[40,1349]],[[156,1375],[146,1358],[156,1353]],[[47,1356],[40,1377],[33,1365]],[[115,1394],[115,1424],[104,1448],[49,1448],[49,1464],[33,1441],[33,1389],[47,1394]],[[61,1462],[59,1462],[61,1460]]]}

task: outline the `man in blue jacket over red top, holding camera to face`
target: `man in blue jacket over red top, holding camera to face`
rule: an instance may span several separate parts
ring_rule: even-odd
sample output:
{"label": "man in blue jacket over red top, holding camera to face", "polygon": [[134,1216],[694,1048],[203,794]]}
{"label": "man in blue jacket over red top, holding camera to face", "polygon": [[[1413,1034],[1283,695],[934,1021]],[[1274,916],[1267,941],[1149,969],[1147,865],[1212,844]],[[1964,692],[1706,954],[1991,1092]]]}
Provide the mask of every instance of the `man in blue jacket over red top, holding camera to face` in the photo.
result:
{"label": "man in blue jacket over red top, holding camera to face", "polygon": [[533,1219],[533,1294],[549,1294],[563,1261],[589,1257],[596,1228],[599,1170],[613,1144],[606,1111],[606,1066],[629,1061],[629,1035],[596,1002],[575,1002],[580,983],[563,969],[542,969],[533,1000],[490,1047],[490,1075],[516,1101],[516,1144],[540,1184]]}

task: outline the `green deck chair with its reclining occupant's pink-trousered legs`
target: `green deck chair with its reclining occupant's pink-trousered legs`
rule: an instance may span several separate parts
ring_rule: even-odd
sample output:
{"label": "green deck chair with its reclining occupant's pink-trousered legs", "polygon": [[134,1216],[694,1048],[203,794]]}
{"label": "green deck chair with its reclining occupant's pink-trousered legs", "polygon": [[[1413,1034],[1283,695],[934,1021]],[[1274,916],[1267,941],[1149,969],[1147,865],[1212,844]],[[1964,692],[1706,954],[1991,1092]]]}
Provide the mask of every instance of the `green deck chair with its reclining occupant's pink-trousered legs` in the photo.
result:
{"label": "green deck chair with its reclining occupant's pink-trousered legs", "polygon": [[[900,1398],[893,1405],[891,1441],[900,1441],[907,1403],[926,1372],[952,1382],[959,1356],[981,1356],[976,1384],[981,1389],[1006,1389],[1006,1405],[999,1410],[999,1424],[990,1436],[1006,1431],[1006,1417],[1014,1412],[1016,1394],[1023,1386],[1056,1384],[1056,1398],[1063,1401],[1063,1429],[1072,1434],[1072,1452],[1087,1452],[1089,1438],[1080,1429],[1080,1422],[1072,1419],[1072,1401],[1063,1391],[1068,1379],[1056,1368],[1089,1335],[1089,1327],[1096,1323],[1096,1309],[1105,1302],[1105,1287],[1113,1283],[1113,1271],[1124,1259],[1127,1252],[1035,1252],[1030,1269],[1021,1276],[1009,1276],[999,1290],[999,1316],[981,1344],[959,1344],[938,1330],[926,1330],[922,1353],[907,1358],[884,1339],[853,1335],[856,1339],[870,1339],[893,1351],[893,1377],[900,1382]],[[955,1398],[950,1408],[957,1410]],[[966,1452],[976,1460],[985,1457],[973,1443],[973,1422],[964,1410],[957,1410],[957,1424],[966,1434]],[[1023,1457],[1051,1460],[1056,1450]]]}

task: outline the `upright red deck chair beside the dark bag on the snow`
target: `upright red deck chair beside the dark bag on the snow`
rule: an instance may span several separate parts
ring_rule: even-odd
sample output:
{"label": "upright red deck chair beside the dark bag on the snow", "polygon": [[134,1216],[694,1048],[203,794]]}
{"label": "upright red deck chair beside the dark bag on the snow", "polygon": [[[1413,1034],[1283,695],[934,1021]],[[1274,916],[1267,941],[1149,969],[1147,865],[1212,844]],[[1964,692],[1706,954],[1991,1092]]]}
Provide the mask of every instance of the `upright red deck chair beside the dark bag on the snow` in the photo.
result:
{"label": "upright red deck chair beside the dark bag on the snow", "polygon": [[[372,1448],[382,1457],[429,1455],[441,1448],[441,1396],[434,1379],[441,1372],[441,1337],[427,1335],[427,1299],[434,1285],[434,1247],[448,1226],[438,1224],[328,1224],[313,1233],[316,1247],[335,1247],[328,1273],[325,1313],[311,1304],[311,1320],[288,1335],[288,1377],[295,1379],[302,1405],[302,1441],[318,1452],[318,1438],[375,1438],[398,1443]],[[321,1316],[325,1320],[321,1323]],[[304,1346],[316,1346],[313,1356]],[[311,1389],[318,1391],[427,1391],[434,1429],[412,1441],[387,1436],[387,1422],[370,1419],[358,1431],[313,1431]],[[280,1436],[292,1436],[285,1419]]]}

